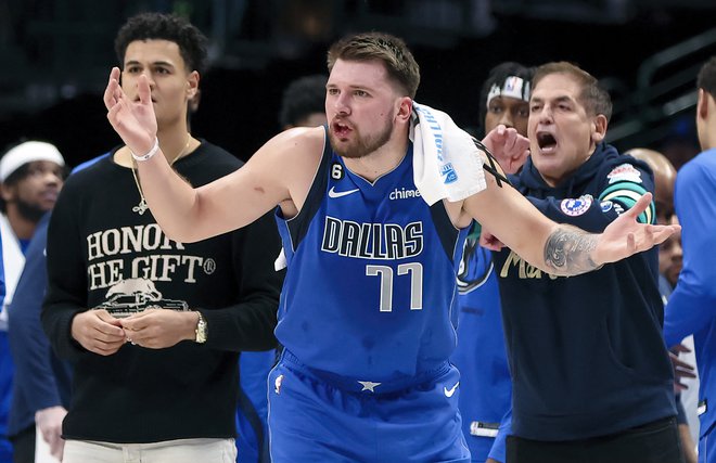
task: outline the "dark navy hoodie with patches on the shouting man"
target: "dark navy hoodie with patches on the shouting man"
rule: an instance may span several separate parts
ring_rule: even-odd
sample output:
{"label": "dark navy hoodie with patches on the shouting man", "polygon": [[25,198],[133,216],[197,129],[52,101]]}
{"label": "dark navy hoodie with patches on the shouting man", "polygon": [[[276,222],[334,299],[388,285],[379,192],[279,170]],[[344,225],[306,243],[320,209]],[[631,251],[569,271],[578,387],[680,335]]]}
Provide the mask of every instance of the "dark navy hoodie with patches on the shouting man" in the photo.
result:
{"label": "dark navy hoodie with patches on the shouting man", "polygon": [[[645,164],[605,144],[555,188],[532,159],[510,181],[552,220],[592,232],[654,190]],[[652,203],[640,221],[653,213]],[[656,248],[571,278],[546,274],[510,249],[495,257],[514,435],[583,439],[676,414]]]}

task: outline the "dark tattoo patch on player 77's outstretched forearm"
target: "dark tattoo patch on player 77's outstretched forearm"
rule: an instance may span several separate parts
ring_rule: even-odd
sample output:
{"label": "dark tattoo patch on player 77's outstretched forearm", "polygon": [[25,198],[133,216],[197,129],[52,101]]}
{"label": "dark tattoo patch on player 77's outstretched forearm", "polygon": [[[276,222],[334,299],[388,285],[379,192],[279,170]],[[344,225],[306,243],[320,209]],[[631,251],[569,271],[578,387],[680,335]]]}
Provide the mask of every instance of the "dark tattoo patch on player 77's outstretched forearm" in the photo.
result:
{"label": "dark tattoo patch on player 77's outstretched forearm", "polygon": [[545,244],[545,262],[554,274],[577,275],[599,266],[590,253],[597,246],[597,236],[575,228],[560,227]]}

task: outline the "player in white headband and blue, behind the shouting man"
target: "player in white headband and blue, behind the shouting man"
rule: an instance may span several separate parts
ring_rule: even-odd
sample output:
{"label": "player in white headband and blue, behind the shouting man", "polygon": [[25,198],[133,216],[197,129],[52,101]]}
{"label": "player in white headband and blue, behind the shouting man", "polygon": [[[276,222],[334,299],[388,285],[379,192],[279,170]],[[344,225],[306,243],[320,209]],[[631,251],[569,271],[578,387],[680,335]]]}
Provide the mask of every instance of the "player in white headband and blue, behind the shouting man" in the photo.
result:
{"label": "player in white headband and blue, behind the shouting man", "polygon": [[[502,124],[527,136],[530,79],[532,69],[519,63],[506,62],[490,69],[477,102],[485,132]],[[460,370],[459,408],[472,462],[483,463],[488,455],[490,461],[504,462],[504,439],[496,442],[495,437],[510,410],[512,384],[493,255],[480,246],[478,239],[480,224],[475,223],[458,273],[458,347],[451,361]]]}

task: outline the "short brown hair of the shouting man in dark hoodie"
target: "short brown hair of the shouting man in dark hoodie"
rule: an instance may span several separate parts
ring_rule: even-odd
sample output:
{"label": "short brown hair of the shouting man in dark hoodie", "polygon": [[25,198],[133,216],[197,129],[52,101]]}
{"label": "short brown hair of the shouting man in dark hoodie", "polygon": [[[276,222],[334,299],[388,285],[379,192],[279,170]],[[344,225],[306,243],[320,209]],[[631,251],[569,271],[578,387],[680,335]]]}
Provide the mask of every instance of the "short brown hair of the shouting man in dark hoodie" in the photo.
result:
{"label": "short brown hair of the shouting man in dark hoodie", "polygon": [[538,66],[532,79],[533,91],[542,78],[551,74],[566,74],[574,77],[581,86],[579,100],[587,110],[587,113],[592,116],[601,114],[606,117],[606,121],[612,118],[612,98],[609,92],[599,85],[599,80],[594,76],[566,61],[558,61]]}

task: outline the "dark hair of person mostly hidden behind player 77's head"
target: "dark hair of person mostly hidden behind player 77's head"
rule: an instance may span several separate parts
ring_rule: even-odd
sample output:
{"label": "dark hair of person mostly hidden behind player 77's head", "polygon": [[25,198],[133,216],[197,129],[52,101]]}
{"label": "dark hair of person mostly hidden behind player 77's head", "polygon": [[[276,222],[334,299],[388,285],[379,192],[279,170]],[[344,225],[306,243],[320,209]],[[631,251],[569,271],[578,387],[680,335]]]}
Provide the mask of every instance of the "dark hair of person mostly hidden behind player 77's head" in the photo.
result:
{"label": "dark hair of person mostly hidden behind player 77's head", "polygon": [[281,127],[297,126],[301,119],[312,113],[325,112],[325,82],[322,74],[292,80],[283,91],[279,123]]}

